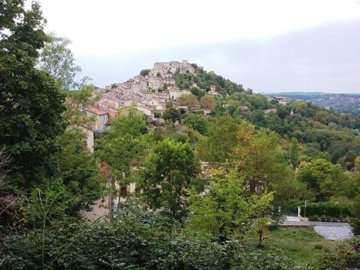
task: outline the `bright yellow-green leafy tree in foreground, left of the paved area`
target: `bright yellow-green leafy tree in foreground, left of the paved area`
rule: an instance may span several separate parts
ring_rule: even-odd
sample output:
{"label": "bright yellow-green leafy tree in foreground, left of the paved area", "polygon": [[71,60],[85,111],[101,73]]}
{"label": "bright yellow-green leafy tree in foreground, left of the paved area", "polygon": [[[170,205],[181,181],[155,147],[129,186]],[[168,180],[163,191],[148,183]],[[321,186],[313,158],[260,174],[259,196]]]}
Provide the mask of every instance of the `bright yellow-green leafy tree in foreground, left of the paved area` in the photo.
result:
{"label": "bright yellow-green leafy tree in foreground, left of the paved area", "polygon": [[272,193],[247,196],[244,181],[236,171],[219,170],[205,194],[192,193],[188,227],[205,237],[225,242],[256,223],[270,207]]}

